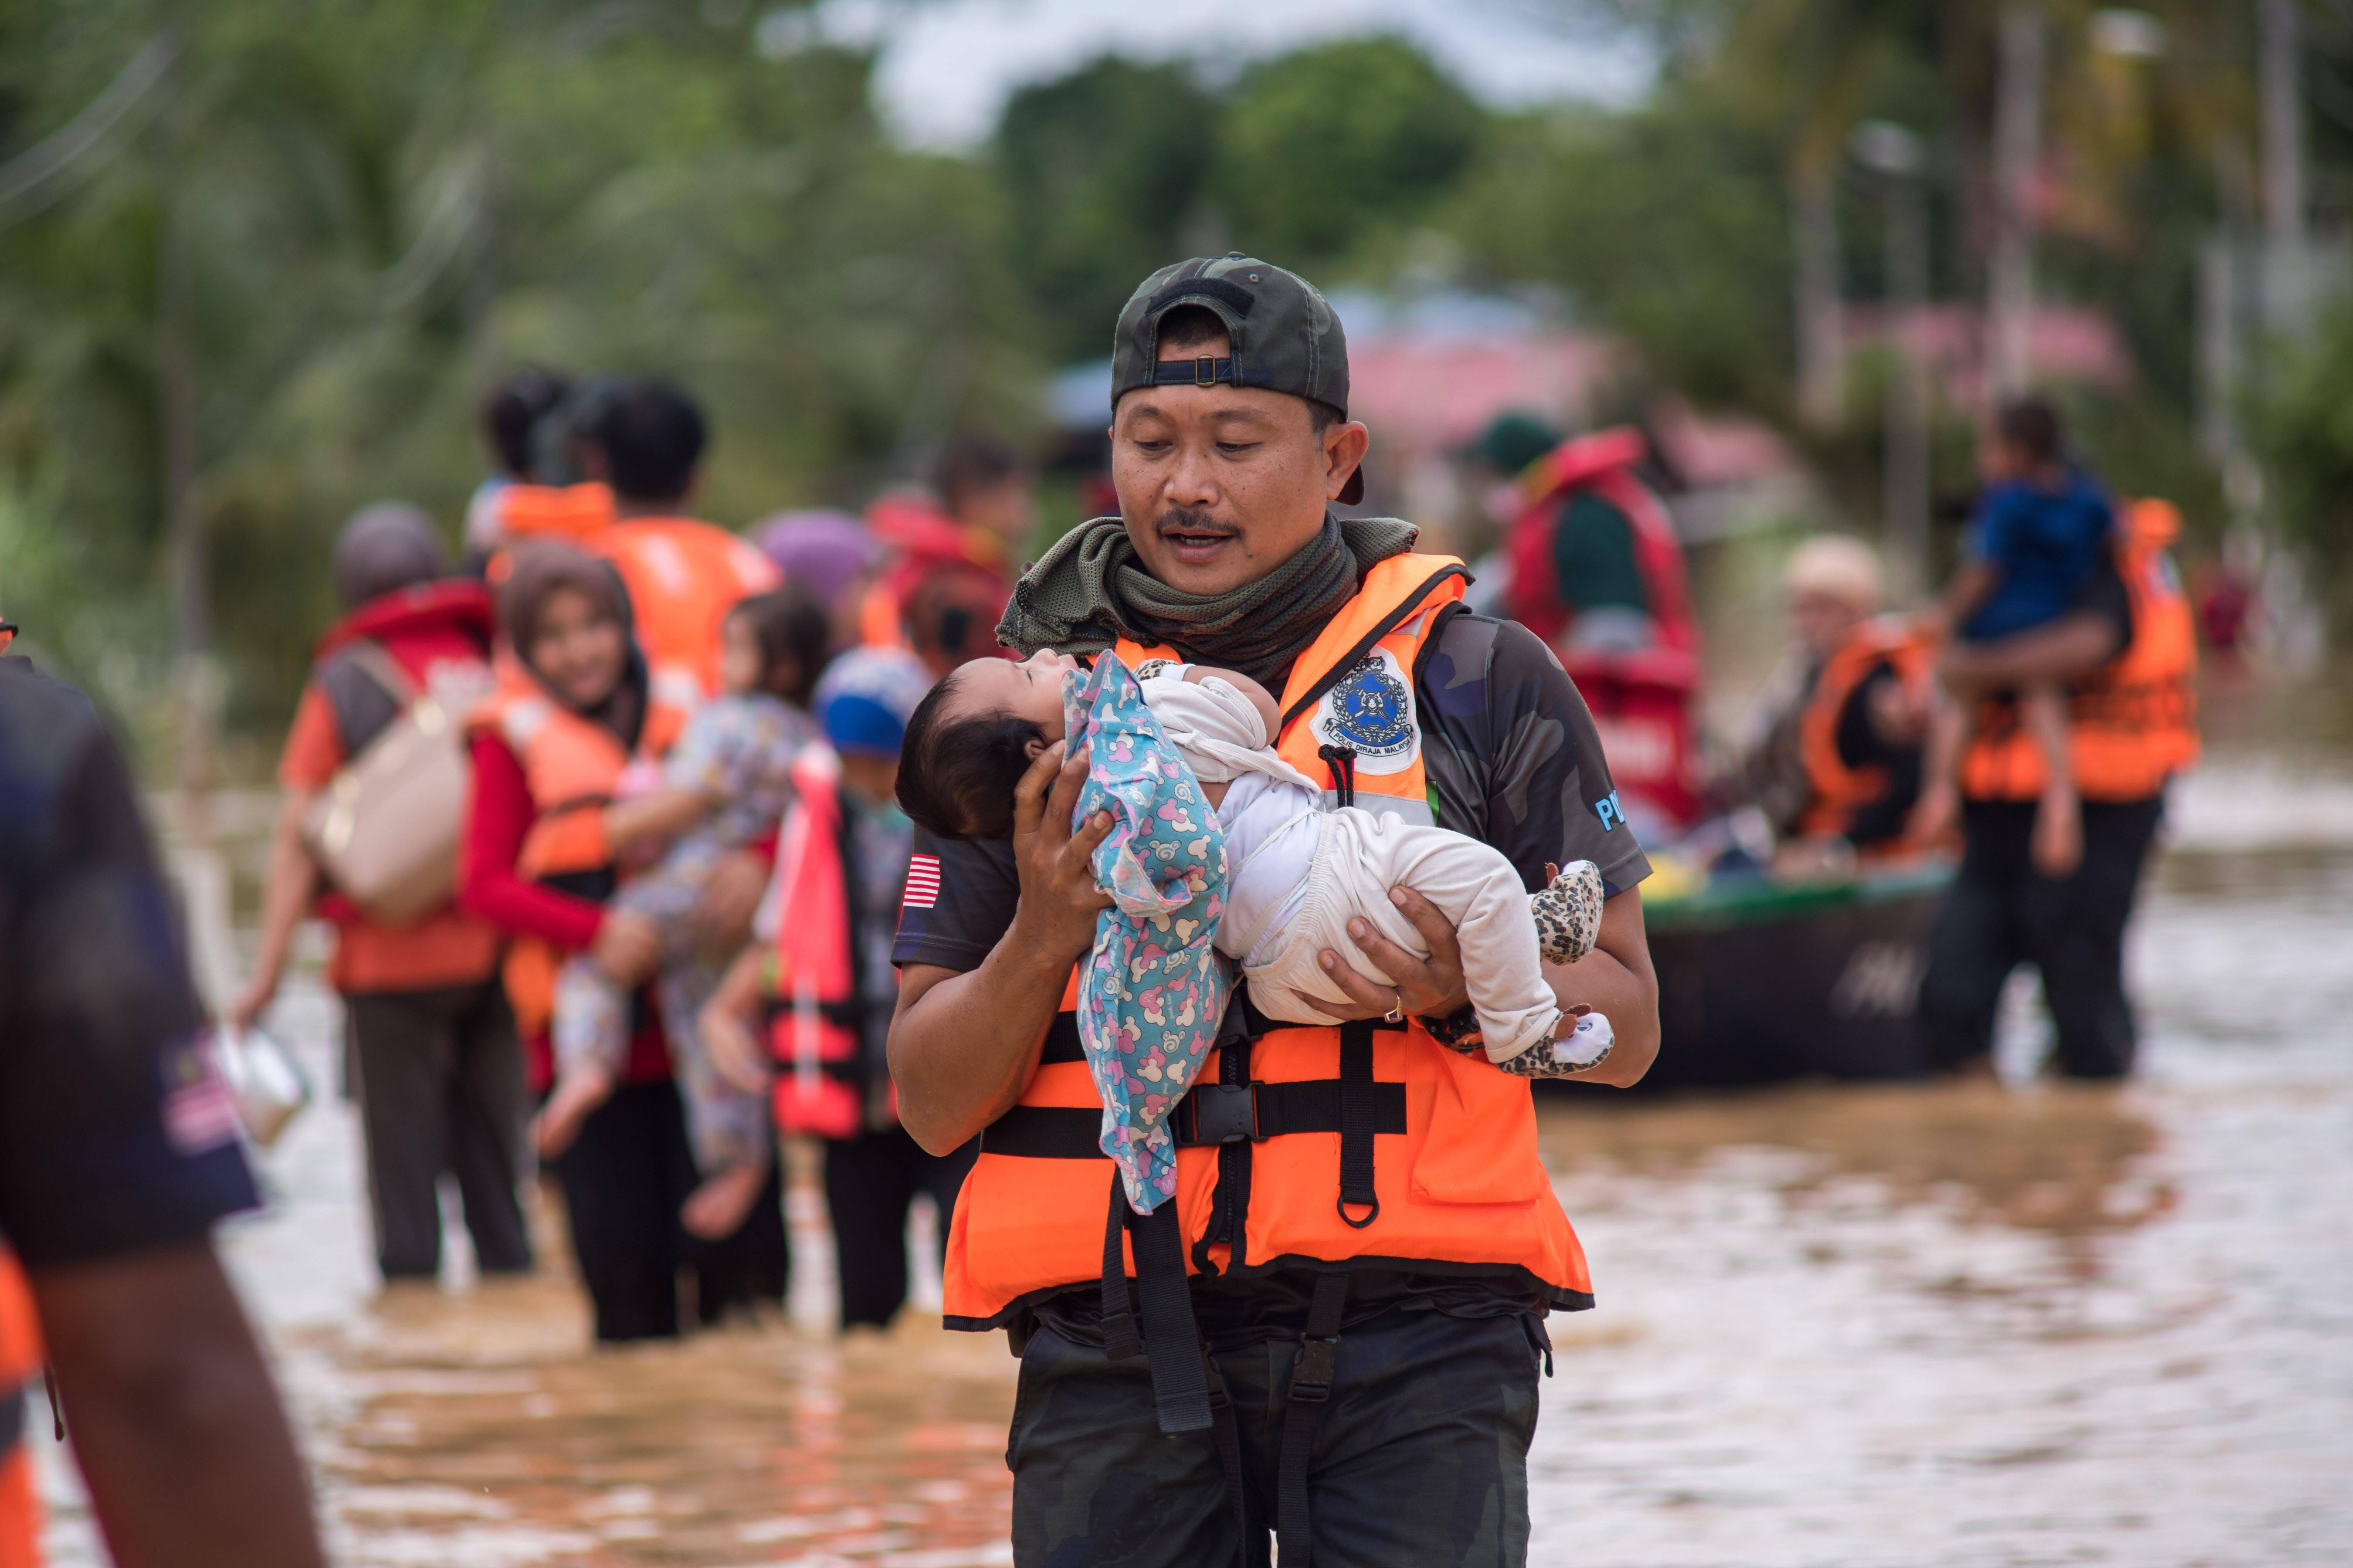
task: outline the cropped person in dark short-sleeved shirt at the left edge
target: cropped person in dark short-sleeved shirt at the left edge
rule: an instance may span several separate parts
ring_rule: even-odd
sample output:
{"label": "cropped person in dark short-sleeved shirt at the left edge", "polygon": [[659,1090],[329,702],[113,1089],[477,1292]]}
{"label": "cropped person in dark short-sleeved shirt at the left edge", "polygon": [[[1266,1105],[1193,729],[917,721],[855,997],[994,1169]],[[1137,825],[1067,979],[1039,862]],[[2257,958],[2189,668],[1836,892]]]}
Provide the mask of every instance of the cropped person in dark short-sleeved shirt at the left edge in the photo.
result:
{"label": "cropped person in dark short-sleeved shirt at the left edge", "polygon": [[47,1361],[115,1561],[313,1568],[308,1481],[212,1253],[256,1196],[172,895],[89,702],[9,657],[0,1019],[0,1563],[40,1563]]}

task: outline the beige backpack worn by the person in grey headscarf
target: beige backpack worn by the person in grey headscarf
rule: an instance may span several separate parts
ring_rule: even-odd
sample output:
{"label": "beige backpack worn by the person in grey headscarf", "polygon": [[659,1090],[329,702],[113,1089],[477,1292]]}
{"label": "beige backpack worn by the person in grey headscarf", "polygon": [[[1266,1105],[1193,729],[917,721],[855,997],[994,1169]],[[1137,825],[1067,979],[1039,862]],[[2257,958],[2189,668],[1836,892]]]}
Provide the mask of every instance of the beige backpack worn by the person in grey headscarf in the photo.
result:
{"label": "beige backpack worn by the person in grey headscarf", "polygon": [[409,925],[456,892],[473,782],[464,716],[480,690],[419,692],[379,643],[355,643],[346,657],[384,687],[395,713],[311,803],[304,848],[369,921]]}

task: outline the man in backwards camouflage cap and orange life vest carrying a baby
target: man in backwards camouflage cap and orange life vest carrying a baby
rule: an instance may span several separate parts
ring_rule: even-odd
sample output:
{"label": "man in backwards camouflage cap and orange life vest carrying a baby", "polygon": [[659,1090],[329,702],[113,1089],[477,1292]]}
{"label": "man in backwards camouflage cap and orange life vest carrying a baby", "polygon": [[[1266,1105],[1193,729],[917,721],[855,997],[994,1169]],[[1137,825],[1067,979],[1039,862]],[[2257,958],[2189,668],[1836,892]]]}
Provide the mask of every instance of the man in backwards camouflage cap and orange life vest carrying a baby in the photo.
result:
{"label": "man in backwards camouflage cap and orange life vest carrying a baby", "polygon": [[[1534,633],[1461,607],[1461,563],[1334,520],[1369,440],[1346,410],[1308,283],[1240,254],[1153,273],[1113,346],[1122,516],[1026,572],[998,636],[1240,669],[1327,798],[1473,833],[1527,888],[1593,859],[1600,946],[1548,977],[1617,1026],[1588,1076],[1633,1083],[1649,862],[1593,720]],[[1021,1356],[1014,1561],[1266,1563],[1273,1530],[1285,1563],[1522,1563],[1544,1316],[1593,1297],[1527,1083],[1438,1043],[1475,1026],[1454,932],[1400,890],[1428,958],[1369,930],[1322,956],[1355,1022],[1238,1001],[1176,1114],[1176,1201],[1136,1220],[1071,1012],[1108,904],[1082,782],[1056,746],[1012,843],[920,836],[894,951],[899,1114],[934,1154],[981,1137],[946,1316]]]}

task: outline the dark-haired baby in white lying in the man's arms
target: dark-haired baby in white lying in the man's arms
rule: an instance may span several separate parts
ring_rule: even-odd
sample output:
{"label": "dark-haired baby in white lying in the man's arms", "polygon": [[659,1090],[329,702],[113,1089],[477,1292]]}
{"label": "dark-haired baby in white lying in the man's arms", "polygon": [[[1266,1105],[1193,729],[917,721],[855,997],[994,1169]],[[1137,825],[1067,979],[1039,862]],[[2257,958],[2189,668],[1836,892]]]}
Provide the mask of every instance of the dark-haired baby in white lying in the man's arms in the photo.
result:
{"label": "dark-haired baby in white lying in the man's arms", "polygon": [[[1038,652],[1021,664],[976,659],[941,680],[908,723],[899,775],[906,812],[944,838],[1009,838],[1014,786],[1066,735],[1064,676],[1073,669],[1068,655]],[[1351,918],[1428,956],[1388,897],[1412,888],[1457,928],[1489,1062],[1553,1078],[1609,1052],[1607,1024],[1598,1015],[1572,1024],[1544,979],[1546,961],[1574,963],[1593,949],[1602,906],[1593,862],[1529,895],[1513,864],[1475,838],[1353,805],[1325,810],[1322,789],[1271,746],[1280,713],[1249,676],[1162,659],[1134,673],[1153,723],[1217,812],[1231,881],[1214,946],[1240,963],[1264,1015],[1334,1024],[1353,1012],[1320,965],[1325,949],[1355,946]]]}

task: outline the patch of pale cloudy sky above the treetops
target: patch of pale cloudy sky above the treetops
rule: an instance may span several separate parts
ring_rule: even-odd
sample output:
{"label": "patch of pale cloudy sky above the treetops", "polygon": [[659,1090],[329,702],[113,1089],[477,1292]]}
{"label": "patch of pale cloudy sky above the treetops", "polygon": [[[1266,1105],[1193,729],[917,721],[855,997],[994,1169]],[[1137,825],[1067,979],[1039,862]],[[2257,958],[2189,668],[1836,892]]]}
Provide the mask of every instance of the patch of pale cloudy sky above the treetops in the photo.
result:
{"label": "patch of pale cloudy sky above the treetops", "polygon": [[762,45],[878,42],[875,89],[899,137],[965,148],[1016,87],[1096,54],[1184,54],[1231,73],[1355,33],[1412,38],[1501,106],[1626,101],[1652,73],[1647,49],[1584,16],[1579,0],[824,0],[814,14],[776,12]]}

